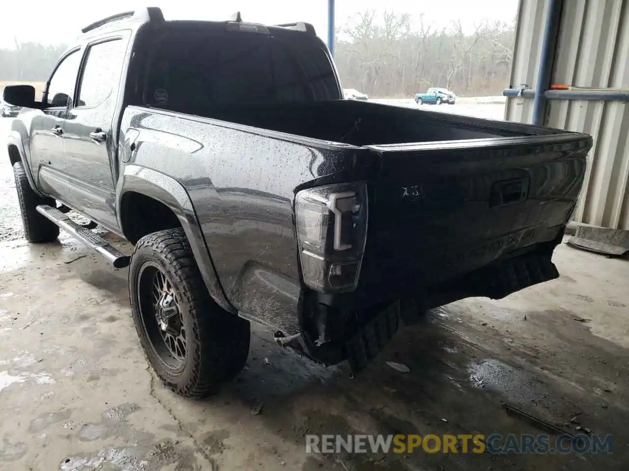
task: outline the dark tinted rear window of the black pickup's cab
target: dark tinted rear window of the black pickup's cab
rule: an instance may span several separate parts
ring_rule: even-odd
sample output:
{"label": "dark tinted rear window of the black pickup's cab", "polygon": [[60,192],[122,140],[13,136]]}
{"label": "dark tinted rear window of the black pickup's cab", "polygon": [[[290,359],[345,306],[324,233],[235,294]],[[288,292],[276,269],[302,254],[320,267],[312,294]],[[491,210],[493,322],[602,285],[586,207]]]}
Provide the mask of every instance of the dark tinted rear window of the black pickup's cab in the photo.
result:
{"label": "dark tinted rear window of the black pickup's cab", "polygon": [[254,33],[162,38],[153,48],[144,95],[148,106],[179,110],[341,98],[320,45]]}

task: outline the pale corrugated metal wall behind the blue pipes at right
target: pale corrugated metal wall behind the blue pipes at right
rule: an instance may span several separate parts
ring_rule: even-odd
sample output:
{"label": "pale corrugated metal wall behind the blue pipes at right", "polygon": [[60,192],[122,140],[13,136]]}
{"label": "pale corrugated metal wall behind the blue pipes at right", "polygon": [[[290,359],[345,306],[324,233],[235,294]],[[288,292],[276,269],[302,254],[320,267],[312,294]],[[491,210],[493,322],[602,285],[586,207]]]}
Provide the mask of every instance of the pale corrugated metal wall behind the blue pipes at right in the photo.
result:
{"label": "pale corrugated metal wall behind the blue pipes at right", "polygon": [[[520,0],[511,85],[535,88],[547,1]],[[564,0],[552,83],[629,89],[629,0]],[[505,119],[531,122],[533,99],[508,98]],[[594,147],[573,219],[629,230],[626,102],[548,100],[546,126],[591,134]]]}

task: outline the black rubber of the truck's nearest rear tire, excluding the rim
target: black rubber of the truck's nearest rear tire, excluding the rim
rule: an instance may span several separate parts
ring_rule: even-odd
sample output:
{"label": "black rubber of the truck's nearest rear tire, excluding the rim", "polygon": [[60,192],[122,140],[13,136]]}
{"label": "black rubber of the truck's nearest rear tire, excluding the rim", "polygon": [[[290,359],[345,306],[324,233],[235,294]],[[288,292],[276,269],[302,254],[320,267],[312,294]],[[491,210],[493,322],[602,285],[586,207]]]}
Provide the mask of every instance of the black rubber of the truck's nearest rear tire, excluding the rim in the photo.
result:
{"label": "black rubber of the truck's nearest rear tire, excluding the rim", "polygon": [[[138,281],[147,263],[163,271],[182,301],[187,345],[181,371],[170,368],[160,358],[144,324]],[[235,379],[245,367],[251,335],[249,322],[223,310],[209,296],[183,229],[153,232],[137,242],[129,266],[129,293],[133,322],[148,362],[175,393],[205,398],[215,393],[221,383]]]}

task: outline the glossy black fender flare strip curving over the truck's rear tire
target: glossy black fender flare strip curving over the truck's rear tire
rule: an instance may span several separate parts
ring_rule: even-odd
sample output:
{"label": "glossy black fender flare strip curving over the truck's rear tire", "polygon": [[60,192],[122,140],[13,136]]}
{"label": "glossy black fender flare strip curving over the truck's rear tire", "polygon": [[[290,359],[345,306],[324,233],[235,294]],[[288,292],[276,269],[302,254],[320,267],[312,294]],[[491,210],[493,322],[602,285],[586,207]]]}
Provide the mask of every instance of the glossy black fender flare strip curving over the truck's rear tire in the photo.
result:
{"label": "glossy black fender flare strip curving over the truck's rear tire", "polygon": [[127,192],[140,193],[153,198],[172,210],[186,233],[209,295],[221,308],[231,313],[238,313],[225,296],[186,188],[179,181],[159,171],[140,165],[126,165],[116,185],[116,208],[118,208],[116,218],[123,234],[125,228],[122,224],[120,208],[122,198]]}

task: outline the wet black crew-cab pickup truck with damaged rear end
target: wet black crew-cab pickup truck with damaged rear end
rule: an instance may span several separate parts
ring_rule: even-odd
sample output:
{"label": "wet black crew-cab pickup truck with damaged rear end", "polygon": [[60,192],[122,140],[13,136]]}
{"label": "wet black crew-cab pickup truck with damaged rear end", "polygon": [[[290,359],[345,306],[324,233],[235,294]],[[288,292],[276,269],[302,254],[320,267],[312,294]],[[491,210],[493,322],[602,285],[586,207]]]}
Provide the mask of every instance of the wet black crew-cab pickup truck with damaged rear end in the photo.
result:
{"label": "wet black crew-cab pickup truck with damaged rear end", "polygon": [[249,321],[358,372],[427,309],[559,276],[590,136],[344,100],[307,23],[148,8],[82,33],[41,101],[4,90],[26,238],[60,228],[129,267],[142,346],[177,393],[237,376]]}

